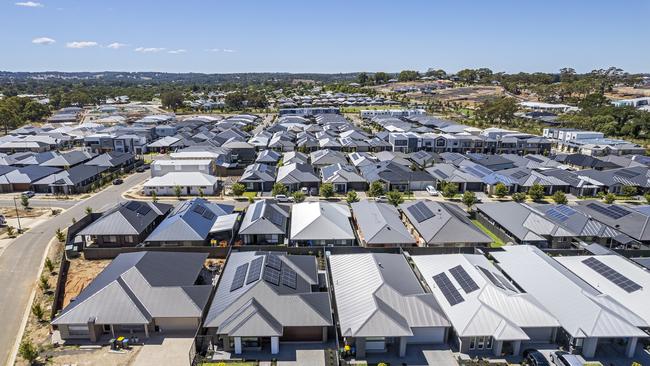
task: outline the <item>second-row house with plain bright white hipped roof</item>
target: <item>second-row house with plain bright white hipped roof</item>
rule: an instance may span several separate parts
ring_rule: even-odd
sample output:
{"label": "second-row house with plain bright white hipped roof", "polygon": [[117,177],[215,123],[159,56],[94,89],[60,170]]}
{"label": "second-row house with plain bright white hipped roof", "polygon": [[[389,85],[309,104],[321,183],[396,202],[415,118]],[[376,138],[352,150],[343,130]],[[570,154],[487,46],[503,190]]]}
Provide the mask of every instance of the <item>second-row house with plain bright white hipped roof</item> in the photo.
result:
{"label": "second-row house with plain bright white hipped roof", "polygon": [[354,245],[356,237],[348,206],[332,202],[302,202],[291,210],[291,244]]}

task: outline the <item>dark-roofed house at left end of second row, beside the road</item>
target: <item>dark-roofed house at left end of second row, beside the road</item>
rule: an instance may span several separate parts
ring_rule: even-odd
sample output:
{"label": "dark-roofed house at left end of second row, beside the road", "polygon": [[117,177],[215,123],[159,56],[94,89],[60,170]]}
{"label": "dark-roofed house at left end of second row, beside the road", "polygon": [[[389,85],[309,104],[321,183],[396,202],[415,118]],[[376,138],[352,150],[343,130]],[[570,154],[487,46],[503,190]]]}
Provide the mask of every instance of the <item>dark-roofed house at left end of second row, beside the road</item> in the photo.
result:
{"label": "dark-roofed house at left end of second row, beside the road", "polygon": [[77,235],[81,236],[84,246],[135,247],[144,241],[173,207],[158,202],[118,203],[102,212]]}

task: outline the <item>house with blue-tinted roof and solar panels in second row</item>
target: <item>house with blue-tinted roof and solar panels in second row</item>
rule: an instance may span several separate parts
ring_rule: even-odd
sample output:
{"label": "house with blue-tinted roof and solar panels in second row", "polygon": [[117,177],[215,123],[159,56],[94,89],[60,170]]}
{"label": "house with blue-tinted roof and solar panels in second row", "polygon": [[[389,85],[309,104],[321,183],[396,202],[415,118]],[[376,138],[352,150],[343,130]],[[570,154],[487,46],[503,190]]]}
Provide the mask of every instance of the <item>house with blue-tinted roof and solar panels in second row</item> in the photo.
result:
{"label": "house with blue-tinted roof and solar panels in second row", "polygon": [[234,206],[203,198],[183,201],[145,239],[152,246],[216,245],[230,242],[239,214]]}

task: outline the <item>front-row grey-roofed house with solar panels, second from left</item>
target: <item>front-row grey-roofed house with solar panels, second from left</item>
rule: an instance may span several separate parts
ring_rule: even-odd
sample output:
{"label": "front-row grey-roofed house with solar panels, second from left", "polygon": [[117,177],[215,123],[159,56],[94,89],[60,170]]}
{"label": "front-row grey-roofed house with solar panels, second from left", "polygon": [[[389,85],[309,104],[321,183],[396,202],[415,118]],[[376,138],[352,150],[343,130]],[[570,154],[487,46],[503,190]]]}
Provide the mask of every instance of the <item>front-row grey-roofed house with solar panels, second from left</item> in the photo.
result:
{"label": "front-row grey-roofed house with solar panels, second from left", "polygon": [[308,255],[233,252],[203,323],[236,355],[280,352],[283,342],[325,342],[334,322],[327,281]]}

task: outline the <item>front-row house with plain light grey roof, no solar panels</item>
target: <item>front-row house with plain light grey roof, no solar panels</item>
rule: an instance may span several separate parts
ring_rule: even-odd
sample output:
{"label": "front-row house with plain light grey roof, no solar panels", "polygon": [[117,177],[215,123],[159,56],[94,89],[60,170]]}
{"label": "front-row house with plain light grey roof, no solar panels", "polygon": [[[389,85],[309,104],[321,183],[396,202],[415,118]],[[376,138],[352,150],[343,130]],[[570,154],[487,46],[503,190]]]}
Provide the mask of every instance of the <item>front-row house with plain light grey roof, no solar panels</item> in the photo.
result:
{"label": "front-row house with plain light grey roof, no solar panels", "polygon": [[408,354],[409,345],[445,343],[449,320],[401,254],[328,256],[339,334],[367,353]]}

